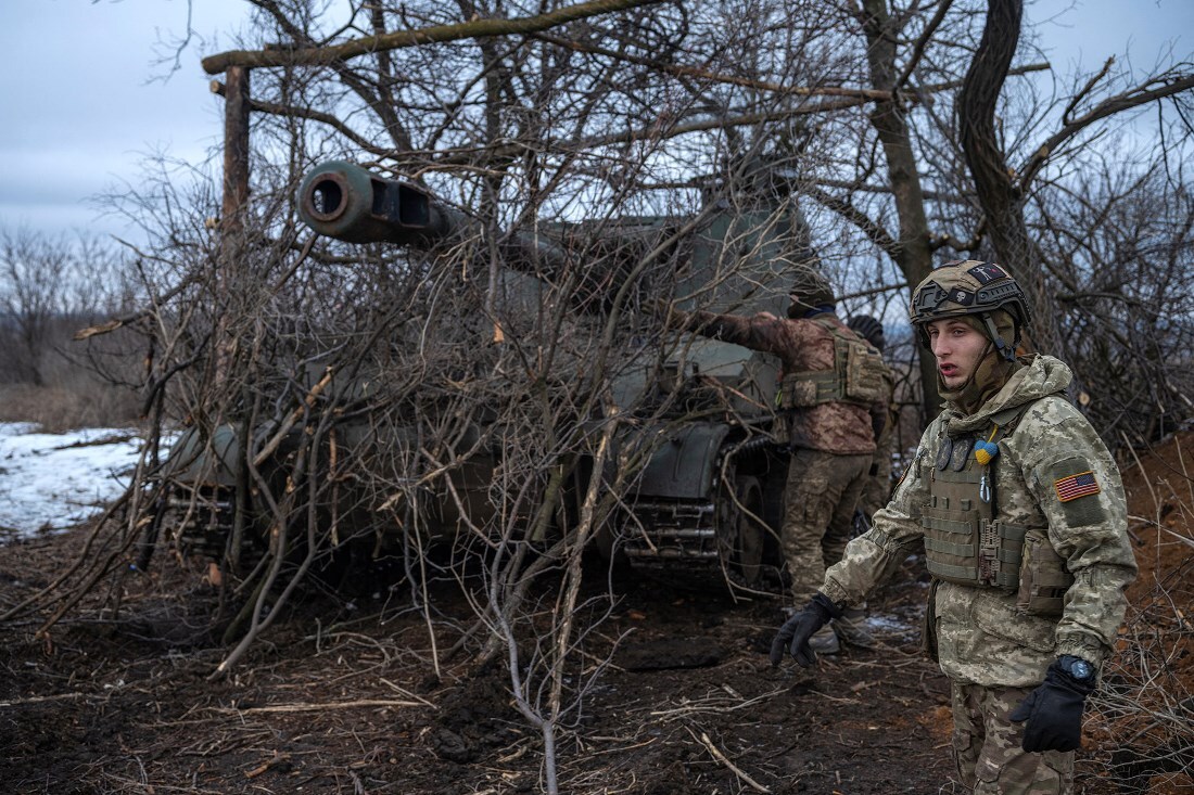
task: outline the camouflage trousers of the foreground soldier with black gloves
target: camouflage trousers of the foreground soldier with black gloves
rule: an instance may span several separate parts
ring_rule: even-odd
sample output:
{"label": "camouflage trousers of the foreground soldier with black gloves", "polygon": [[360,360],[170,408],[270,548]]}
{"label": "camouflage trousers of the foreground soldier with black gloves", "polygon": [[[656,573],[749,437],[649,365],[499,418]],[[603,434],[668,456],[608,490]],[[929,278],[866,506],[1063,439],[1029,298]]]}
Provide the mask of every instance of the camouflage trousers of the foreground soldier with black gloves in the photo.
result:
{"label": "camouflage trousers of the foreground soldier with black gloves", "polygon": [[950,684],[954,762],[974,795],[1072,795],[1073,752],[1035,753],[1020,747],[1023,723],[1009,715],[1032,688]]}

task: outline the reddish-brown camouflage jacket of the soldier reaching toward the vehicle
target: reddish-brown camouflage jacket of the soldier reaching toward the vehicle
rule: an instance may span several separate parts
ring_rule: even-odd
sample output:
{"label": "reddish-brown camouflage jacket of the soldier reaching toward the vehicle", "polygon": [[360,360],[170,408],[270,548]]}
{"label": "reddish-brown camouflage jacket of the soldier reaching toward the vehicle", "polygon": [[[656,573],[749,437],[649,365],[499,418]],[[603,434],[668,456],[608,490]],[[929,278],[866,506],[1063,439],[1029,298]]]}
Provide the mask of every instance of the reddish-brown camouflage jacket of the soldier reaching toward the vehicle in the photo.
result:
{"label": "reddish-brown camouflage jacket of the soldier reaching toward the vehicle", "polygon": [[[752,318],[712,312],[677,313],[687,331],[764,351],[778,357],[782,374],[833,369],[833,335],[819,322],[789,320],[761,313]],[[835,326],[854,334],[836,315]],[[790,443],[823,452],[858,455],[875,451],[872,413],[847,402],[830,402],[790,412]]]}

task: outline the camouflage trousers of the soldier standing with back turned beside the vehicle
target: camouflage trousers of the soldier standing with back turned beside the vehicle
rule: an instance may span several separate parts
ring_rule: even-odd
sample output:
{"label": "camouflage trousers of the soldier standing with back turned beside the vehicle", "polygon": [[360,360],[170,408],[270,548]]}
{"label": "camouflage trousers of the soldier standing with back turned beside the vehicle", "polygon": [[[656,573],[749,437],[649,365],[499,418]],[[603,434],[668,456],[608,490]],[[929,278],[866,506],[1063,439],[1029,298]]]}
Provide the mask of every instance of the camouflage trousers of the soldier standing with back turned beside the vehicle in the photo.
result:
{"label": "camouflage trousers of the soldier standing with back turned beside the vehicle", "polygon": [[795,603],[808,602],[825,569],[842,560],[854,528],[854,507],[870,470],[870,455],[838,456],[796,449],[783,494],[783,559]]}

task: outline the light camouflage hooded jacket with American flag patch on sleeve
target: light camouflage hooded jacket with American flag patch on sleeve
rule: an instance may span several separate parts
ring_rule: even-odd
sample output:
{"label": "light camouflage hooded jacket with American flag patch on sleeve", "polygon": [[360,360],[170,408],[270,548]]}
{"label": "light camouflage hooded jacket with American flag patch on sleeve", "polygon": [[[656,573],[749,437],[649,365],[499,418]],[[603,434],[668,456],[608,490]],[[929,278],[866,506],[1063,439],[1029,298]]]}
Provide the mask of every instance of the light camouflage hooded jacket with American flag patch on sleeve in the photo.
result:
{"label": "light camouflage hooded jacket with American flag patch on sleeve", "polygon": [[[1075,578],[1063,614],[1027,615],[1016,608],[1014,591],[935,583],[929,605],[935,624],[927,629],[936,630],[942,671],[960,683],[1034,686],[1061,654],[1101,664],[1113,651],[1126,608],[1124,588],[1137,566],[1119,469],[1090,423],[1063,396],[1070,380],[1065,364],[1038,356],[974,414],[947,407],[925,430],[891,503],[826,572],[821,591],[837,603],[861,602],[916,547],[942,426],[950,438],[973,436],[990,426],[992,414],[1032,402],[991,462],[996,517],[1047,526],[1050,543]],[[1098,491],[1063,501],[1058,488],[1076,461],[1094,475]]]}

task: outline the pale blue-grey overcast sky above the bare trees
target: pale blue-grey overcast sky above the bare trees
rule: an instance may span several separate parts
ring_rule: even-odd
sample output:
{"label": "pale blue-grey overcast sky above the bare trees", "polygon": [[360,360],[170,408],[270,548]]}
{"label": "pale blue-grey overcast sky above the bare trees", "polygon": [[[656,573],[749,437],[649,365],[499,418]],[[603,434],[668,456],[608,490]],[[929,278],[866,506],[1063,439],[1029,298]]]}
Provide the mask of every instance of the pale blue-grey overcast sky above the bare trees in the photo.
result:
{"label": "pale blue-grey overcast sky above the bare trees", "polygon": [[[1151,67],[1173,45],[1194,53],[1192,0],[1028,0],[1054,67],[1097,68],[1127,53]],[[244,0],[193,0],[180,68],[162,80],[187,30],[186,0],[0,0],[0,227],[127,234],[93,197],[136,183],[150,153],[197,162],[219,144],[222,100],[199,58],[227,49]],[[1072,7],[1072,8],[1071,8]],[[1066,11],[1069,8],[1069,11]]]}

